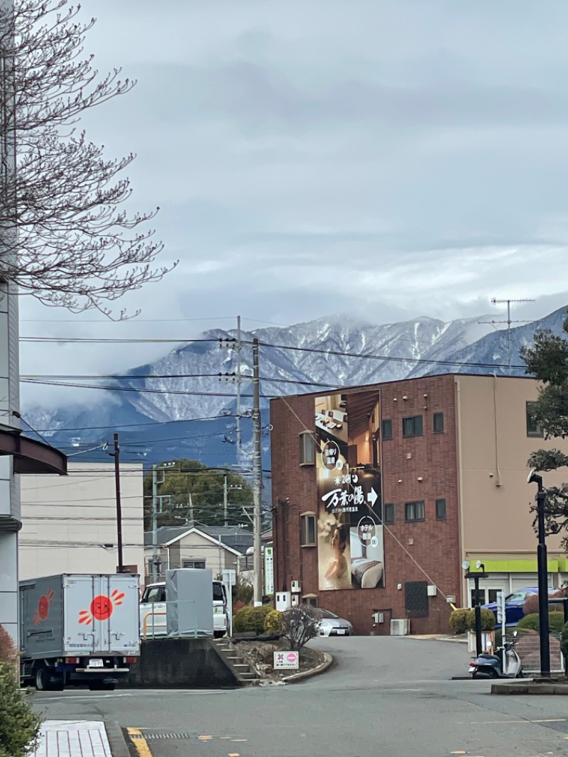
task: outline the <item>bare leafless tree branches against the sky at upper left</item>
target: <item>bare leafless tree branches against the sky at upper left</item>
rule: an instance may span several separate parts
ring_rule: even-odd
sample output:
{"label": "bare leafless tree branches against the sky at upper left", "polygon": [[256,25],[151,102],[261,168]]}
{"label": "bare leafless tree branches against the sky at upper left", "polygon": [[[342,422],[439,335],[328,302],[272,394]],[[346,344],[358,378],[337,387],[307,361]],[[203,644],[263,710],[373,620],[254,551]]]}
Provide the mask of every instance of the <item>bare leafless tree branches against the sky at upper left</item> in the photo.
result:
{"label": "bare leafless tree branches against the sky at upper left", "polygon": [[158,209],[124,208],[134,155],[108,159],[77,127],[135,85],[93,67],[83,45],[94,23],[69,0],[0,0],[0,277],[44,304],[109,314],[175,263],[153,265]]}

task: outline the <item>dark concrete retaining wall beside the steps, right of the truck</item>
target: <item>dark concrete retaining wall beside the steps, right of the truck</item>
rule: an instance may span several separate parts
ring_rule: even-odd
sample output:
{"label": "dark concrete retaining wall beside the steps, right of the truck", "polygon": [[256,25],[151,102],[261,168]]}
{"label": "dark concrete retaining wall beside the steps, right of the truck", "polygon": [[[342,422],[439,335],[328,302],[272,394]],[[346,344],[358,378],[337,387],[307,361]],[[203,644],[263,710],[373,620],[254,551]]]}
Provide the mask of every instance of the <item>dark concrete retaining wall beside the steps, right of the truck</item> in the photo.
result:
{"label": "dark concrete retaining wall beside the steps, right of the truck", "polygon": [[143,640],[124,688],[219,689],[240,686],[210,639]]}

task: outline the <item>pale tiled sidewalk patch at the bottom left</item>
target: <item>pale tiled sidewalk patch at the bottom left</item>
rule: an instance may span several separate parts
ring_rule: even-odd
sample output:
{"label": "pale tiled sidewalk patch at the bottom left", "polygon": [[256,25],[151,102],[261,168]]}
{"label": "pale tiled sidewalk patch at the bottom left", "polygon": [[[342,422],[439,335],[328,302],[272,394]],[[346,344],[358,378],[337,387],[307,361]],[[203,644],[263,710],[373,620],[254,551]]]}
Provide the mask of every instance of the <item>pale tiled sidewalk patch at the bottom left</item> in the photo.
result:
{"label": "pale tiled sidewalk patch at the bottom left", "polygon": [[30,757],[112,757],[105,723],[46,720]]}

